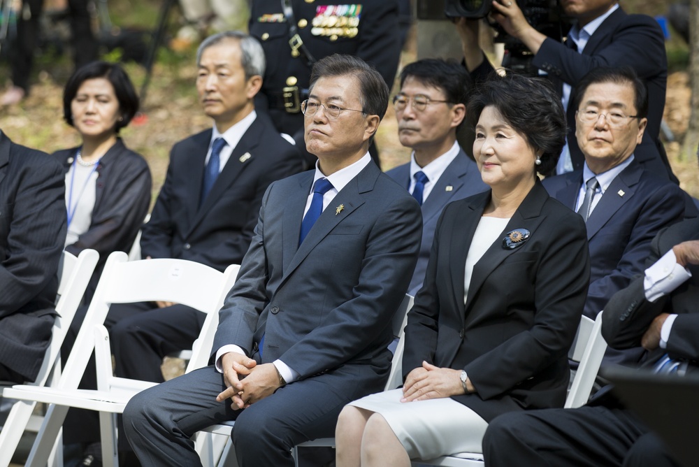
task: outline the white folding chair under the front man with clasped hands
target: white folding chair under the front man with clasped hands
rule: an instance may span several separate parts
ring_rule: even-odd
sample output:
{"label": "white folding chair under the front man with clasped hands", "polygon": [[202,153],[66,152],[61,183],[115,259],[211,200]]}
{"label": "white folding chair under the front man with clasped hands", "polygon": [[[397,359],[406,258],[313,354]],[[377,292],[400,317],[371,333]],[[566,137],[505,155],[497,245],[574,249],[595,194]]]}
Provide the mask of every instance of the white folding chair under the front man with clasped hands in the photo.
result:
{"label": "white folding chair under the front man with clasped hands", "polygon": [[[405,336],[405,324],[408,322],[408,311],[412,308],[412,302],[413,297],[405,295],[401,302],[401,306],[396,310],[396,314],[391,321],[391,329],[393,330],[394,338],[398,339],[398,345],[394,352],[393,359],[391,359],[391,371],[389,373],[389,379],[384,387],[385,391],[395,389],[403,384],[403,375],[401,374],[401,361],[403,361],[403,349],[405,348],[403,337]],[[236,422],[231,421],[224,424],[209,426],[207,429],[203,430],[203,432],[206,433],[200,432],[197,435],[197,452],[199,452],[204,466],[222,466],[226,462],[226,459],[233,455],[231,432],[233,431],[235,423]],[[220,447],[223,446],[222,443],[217,443],[215,440],[212,440],[208,433],[228,437],[223,452],[220,450]],[[335,438],[319,438],[295,446],[293,454],[294,459],[296,459],[296,466],[298,466],[298,447],[335,447]]]}

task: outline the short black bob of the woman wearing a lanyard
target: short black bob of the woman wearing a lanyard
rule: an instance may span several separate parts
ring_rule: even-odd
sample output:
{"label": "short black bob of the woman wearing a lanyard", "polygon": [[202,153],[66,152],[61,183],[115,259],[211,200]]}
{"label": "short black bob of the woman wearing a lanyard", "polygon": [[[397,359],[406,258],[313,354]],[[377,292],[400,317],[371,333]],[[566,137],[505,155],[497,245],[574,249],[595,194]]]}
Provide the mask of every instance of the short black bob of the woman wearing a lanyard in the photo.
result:
{"label": "short black bob of the woman wearing a lanyard", "polygon": [[114,94],[119,101],[119,113],[122,120],[117,120],[115,131],[126,127],[131,119],[138,112],[138,94],[131,84],[129,75],[122,69],[121,66],[108,62],[91,62],[85,66],[81,66],[75,70],[73,76],[69,78],[66,87],[63,90],[63,117],[66,122],[73,126],[73,111],[71,110],[71,102],[75,99],[75,94],[78,94],[78,89],[83,82],[94,78],[105,78],[114,88]]}

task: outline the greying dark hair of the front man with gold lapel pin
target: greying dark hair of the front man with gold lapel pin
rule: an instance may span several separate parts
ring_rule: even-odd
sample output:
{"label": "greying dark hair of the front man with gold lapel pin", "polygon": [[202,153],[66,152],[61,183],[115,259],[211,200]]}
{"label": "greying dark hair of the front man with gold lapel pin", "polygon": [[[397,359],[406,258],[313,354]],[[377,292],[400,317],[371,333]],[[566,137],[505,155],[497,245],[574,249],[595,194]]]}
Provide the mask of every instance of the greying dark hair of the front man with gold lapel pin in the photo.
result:
{"label": "greying dark hair of the front man with gold lapel pin", "polygon": [[310,74],[310,89],[318,78],[352,76],[359,81],[361,110],[382,120],[389,106],[389,87],[376,69],[358,57],[334,54],[318,60]]}

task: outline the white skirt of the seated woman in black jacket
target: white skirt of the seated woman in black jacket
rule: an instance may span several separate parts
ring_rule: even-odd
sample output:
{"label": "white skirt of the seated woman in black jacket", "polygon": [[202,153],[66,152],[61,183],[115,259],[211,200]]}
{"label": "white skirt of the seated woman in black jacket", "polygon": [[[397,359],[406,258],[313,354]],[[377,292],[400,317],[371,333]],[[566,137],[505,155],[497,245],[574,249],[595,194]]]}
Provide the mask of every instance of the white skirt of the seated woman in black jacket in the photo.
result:
{"label": "white skirt of the seated woman in black jacket", "polygon": [[451,398],[401,402],[403,389],[358,399],[349,405],[376,412],[388,422],[411,459],[434,459],[457,452],[482,452],[487,422]]}

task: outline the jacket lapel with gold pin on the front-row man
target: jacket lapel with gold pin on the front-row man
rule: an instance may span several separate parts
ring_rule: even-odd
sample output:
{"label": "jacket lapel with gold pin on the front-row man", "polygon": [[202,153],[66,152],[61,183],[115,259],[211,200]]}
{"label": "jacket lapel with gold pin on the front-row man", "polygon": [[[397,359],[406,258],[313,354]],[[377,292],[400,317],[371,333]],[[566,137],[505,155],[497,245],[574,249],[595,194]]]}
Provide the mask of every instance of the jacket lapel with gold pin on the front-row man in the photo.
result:
{"label": "jacket lapel with gold pin on the front-row man", "polygon": [[[363,170],[352,180],[350,180],[345,187],[340,190],[340,192],[335,196],[332,203],[323,211],[318,220],[315,222],[313,227],[308,232],[308,235],[303,240],[303,243],[298,246],[296,254],[294,254],[293,259],[289,263],[287,268],[284,268],[284,278],[282,278],[282,283],[289,277],[289,275],[294,272],[294,269],[301,264],[301,261],[308,256],[310,252],[334,229],[340,222],[347,219],[356,208],[359,208],[364,203],[364,199],[361,196],[362,193],[370,192],[376,182],[376,178],[379,176],[379,168],[370,163],[368,166],[363,168]],[[308,192],[310,192],[310,185],[308,186]],[[308,193],[307,192],[307,193]],[[336,206],[344,206],[340,213],[337,212]],[[301,211],[303,214],[303,210]],[[284,216],[286,220],[286,216]],[[296,221],[298,224],[298,229],[294,228],[294,234],[284,233],[284,236],[295,236],[296,244],[298,245],[299,231],[301,230],[301,215],[298,216]],[[296,226],[296,224],[290,224]],[[284,225],[286,228],[286,224]],[[294,245],[288,245],[289,247],[294,247]],[[284,240],[284,247],[287,247],[287,241]],[[294,247],[295,250],[295,247]],[[291,251],[294,251],[291,250]]]}

